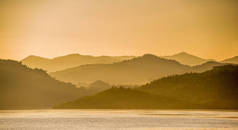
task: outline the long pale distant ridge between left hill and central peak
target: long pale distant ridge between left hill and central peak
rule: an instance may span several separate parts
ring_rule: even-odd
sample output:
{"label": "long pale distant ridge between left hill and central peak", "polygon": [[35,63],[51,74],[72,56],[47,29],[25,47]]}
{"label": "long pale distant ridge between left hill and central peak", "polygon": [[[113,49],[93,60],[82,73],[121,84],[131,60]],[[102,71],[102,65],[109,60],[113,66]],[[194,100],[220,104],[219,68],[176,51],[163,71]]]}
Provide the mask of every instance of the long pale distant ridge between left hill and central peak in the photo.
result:
{"label": "long pale distant ridge between left hill and central peak", "polygon": [[67,68],[72,68],[84,64],[110,64],[123,60],[128,60],[133,56],[88,56],[80,54],[70,54],[53,59],[42,58],[38,56],[29,56],[22,60],[22,63],[31,67],[55,72]]}

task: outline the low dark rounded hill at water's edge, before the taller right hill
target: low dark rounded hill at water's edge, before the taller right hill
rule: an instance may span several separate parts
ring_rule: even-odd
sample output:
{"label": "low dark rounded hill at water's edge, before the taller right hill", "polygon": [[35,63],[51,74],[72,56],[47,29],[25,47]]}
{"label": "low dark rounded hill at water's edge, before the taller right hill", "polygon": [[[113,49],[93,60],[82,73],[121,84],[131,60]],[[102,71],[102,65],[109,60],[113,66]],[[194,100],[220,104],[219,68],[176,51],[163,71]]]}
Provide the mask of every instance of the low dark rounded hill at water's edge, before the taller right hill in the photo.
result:
{"label": "low dark rounded hill at water's edge, before the taller right hill", "polygon": [[128,88],[111,88],[93,96],[56,105],[57,109],[156,109],[179,108],[184,102]]}

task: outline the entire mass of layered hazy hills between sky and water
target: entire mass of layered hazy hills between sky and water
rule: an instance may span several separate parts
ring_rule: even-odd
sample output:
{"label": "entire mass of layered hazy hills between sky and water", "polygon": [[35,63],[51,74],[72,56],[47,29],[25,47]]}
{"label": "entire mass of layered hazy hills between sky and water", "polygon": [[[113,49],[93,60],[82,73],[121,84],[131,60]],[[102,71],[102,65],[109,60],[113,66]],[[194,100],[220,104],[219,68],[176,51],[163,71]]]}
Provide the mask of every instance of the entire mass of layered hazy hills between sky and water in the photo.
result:
{"label": "entire mass of layered hazy hills between sky and water", "polygon": [[[196,64],[204,63],[191,66],[172,60],[181,56],[197,59]],[[73,54],[54,59],[30,56],[22,63],[0,60],[0,109],[237,108],[234,102],[238,95],[238,69],[230,65],[236,63],[236,57],[223,62],[198,59],[181,53],[169,59],[152,54],[139,57]],[[31,68],[37,65],[42,69],[63,70],[47,73]],[[65,69],[70,66],[76,67]]]}

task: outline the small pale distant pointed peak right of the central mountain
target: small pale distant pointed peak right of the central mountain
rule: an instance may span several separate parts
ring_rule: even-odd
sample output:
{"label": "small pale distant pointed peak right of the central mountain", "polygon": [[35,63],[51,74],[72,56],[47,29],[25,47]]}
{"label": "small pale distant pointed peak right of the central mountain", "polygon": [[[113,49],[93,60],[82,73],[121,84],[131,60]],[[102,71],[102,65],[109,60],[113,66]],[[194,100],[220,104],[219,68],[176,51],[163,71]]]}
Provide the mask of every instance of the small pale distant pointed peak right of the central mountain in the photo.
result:
{"label": "small pale distant pointed peak right of the central mountain", "polygon": [[208,61],[206,59],[202,59],[200,57],[193,56],[186,52],[181,52],[181,53],[178,53],[178,54],[175,54],[172,56],[165,56],[164,58],[176,60],[176,61],[180,62],[181,64],[190,65],[190,66],[200,65],[200,64],[203,64]]}

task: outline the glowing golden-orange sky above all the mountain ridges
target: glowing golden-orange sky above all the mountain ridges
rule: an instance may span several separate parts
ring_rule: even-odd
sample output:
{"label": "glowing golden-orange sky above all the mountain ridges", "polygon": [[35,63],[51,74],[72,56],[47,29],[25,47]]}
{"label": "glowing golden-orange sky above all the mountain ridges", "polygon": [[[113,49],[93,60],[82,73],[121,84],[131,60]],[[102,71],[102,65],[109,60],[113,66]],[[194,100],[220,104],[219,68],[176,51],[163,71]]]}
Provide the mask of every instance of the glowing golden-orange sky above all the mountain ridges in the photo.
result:
{"label": "glowing golden-orange sky above all the mountain ridges", "polygon": [[0,58],[238,55],[238,0],[0,0]]}

